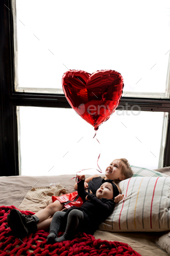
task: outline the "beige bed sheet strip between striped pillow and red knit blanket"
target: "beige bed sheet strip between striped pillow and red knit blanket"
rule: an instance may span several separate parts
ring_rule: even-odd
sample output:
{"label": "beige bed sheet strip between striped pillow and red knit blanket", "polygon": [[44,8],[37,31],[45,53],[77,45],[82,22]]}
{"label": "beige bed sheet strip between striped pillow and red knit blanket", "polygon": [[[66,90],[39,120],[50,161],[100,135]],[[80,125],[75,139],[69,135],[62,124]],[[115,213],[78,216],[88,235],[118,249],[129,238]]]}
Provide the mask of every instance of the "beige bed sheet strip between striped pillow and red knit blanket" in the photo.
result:
{"label": "beige bed sheet strip between striped pillow and red knit blanket", "polygon": [[154,238],[146,233],[110,233],[108,231],[96,230],[94,233],[96,239],[119,241],[128,244],[142,256],[167,256],[167,253],[152,242]]}

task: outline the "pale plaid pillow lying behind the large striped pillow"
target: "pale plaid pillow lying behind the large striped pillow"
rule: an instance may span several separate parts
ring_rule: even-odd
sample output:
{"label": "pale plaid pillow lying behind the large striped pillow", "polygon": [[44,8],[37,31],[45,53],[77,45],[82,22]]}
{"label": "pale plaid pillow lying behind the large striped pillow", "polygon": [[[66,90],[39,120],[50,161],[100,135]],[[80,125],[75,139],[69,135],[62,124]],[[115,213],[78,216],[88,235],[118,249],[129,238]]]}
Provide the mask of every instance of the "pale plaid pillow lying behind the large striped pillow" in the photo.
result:
{"label": "pale plaid pillow lying behind the large striped pillow", "polygon": [[150,170],[150,169],[146,169],[146,168],[142,168],[142,167],[137,167],[134,165],[131,165],[131,169],[134,172],[133,177],[136,176],[141,176],[141,177],[168,177],[168,175],[163,174],[163,173],[159,173],[155,170]]}

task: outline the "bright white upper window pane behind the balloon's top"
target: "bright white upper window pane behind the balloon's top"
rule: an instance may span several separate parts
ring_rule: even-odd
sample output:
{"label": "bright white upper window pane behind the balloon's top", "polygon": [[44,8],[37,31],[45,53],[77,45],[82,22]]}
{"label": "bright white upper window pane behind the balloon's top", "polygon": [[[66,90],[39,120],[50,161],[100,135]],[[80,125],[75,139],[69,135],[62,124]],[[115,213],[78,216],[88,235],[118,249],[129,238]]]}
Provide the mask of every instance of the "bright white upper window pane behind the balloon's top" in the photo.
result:
{"label": "bright white upper window pane behind the balloon's top", "polygon": [[115,69],[123,75],[124,91],[164,94],[169,5],[165,0],[16,0],[18,86],[61,89],[68,69]]}

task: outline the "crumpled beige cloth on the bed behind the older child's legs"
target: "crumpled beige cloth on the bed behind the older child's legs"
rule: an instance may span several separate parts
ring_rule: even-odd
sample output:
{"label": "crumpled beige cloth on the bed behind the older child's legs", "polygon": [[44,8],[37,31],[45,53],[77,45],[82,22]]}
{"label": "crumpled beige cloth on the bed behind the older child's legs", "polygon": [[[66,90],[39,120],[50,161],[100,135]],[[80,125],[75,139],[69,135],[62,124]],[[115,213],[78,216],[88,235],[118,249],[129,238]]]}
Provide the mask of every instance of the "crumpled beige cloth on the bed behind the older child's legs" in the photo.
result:
{"label": "crumpled beige cloth on the bed behind the older child's legs", "polygon": [[53,195],[60,196],[67,193],[68,191],[60,183],[55,187],[32,187],[18,208],[36,213],[53,203],[51,199]]}

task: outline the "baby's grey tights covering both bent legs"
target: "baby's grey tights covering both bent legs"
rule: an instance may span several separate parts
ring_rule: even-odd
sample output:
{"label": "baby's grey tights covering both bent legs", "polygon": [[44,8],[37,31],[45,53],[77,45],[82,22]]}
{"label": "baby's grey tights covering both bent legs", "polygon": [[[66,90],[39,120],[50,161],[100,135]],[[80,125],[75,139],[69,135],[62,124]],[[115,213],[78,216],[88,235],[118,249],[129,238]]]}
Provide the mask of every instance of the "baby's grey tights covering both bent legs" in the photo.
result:
{"label": "baby's grey tights covering both bent legs", "polygon": [[[81,230],[84,214],[82,211],[73,209],[69,212],[67,219],[65,219],[66,212],[56,211],[50,224],[50,235],[47,236],[47,242],[53,244],[54,242],[72,240],[74,234]],[[58,232],[65,231],[63,236],[58,238]]]}

